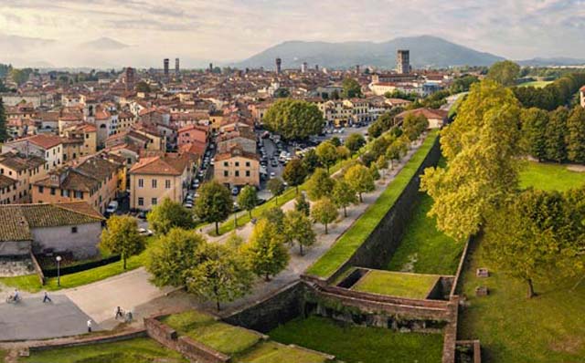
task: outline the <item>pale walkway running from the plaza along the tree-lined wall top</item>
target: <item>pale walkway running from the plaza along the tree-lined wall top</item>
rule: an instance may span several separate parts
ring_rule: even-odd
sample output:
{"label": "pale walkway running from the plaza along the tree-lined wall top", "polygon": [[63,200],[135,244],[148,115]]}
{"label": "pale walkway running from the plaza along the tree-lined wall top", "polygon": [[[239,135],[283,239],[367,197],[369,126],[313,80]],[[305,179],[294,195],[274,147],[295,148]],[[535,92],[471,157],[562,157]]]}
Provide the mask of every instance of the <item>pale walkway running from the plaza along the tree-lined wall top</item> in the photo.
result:
{"label": "pale walkway running from the plaza along the tree-lined wall top", "polygon": [[[378,199],[380,193],[386,189],[390,181],[394,180],[396,174],[410,160],[420,144],[421,142],[417,141],[416,145],[403,158],[403,161],[396,165],[393,171],[387,171],[383,180],[377,181],[376,191],[364,194],[364,202],[347,208],[348,216],[346,218],[340,217],[340,220],[332,223],[328,234],[324,234],[323,225],[315,224],[317,244],[307,249],[303,256],[298,253],[297,247],[293,247],[291,262],[284,271],[269,282],[259,279],[250,295],[225,305],[222,315],[253,305],[283,286],[298,280],[300,275],[366,211],[367,207]],[[284,204],[282,209],[286,211],[293,207],[294,201],[291,201]],[[246,240],[250,236],[252,227],[251,223],[247,223],[240,227],[237,233]],[[228,236],[229,233],[226,233],[223,236],[209,238],[209,240],[221,243]],[[171,288],[160,289],[152,285],[149,278],[150,276],[144,267],[138,268],[90,285],[55,292],[51,294],[55,301],[54,304],[40,303],[43,293],[25,294],[22,305],[8,305],[2,299],[0,303],[1,322],[9,324],[9,326],[0,325],[0,340],[38,339],[80,334],[87,329],[85,324],[88,316],[96,323],[95,328],[112,329],[119,323],[113,319],[116,306],[122,306],[124,310],[133,310],[134,325],[142,324],[144,316],[169,312],[179,307],[185,309],[189,306],[197,306],[209,310],[214,308],[212,305],[197,301],[194,296],[180,292],[170,294]],[[10,319],[6,319],[4,316],[10,316]]]}

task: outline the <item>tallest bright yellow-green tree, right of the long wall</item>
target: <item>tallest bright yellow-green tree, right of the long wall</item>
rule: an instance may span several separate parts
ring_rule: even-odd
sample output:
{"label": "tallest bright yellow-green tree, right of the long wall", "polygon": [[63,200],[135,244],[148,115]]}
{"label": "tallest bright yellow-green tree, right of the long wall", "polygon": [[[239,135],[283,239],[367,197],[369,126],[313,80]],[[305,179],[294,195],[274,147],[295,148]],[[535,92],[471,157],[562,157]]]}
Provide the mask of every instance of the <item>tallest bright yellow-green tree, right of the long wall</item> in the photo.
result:
{"label": "tallest bright yellow-green tree, right of the long wall", "polygon": [[433,199],[439,229],[463,241],[518,187],[520,108],[514,94],[492,80],[473,84],[457,121],[441,130],[447,167],[427,168],[421,190]]}

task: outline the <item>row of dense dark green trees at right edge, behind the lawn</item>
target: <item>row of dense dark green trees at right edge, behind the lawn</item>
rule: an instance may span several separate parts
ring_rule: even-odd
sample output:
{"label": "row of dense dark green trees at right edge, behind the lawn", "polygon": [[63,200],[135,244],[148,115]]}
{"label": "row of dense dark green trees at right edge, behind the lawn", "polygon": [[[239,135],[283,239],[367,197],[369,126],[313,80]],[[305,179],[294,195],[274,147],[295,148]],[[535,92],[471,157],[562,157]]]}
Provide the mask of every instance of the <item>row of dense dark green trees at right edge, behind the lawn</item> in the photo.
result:
{"label": "row of dense dark green trees at right edge, behind the lawn", "polygon": [[585,110],[559,107],[523,109],[522,130],[527,152],[539,161],[585,162]]}

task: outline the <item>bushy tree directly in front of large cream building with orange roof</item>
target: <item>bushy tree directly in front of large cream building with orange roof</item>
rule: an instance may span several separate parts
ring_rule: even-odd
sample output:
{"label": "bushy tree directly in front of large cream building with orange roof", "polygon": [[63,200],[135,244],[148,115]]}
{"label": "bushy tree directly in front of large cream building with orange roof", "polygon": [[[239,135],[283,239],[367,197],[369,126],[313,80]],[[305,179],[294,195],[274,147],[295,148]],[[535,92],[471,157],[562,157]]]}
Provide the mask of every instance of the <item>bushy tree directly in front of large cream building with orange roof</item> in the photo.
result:
{"label": "bushy tree directly in front of large cream building with orange roof", "polygon": [[157,234],[165,234],[173,227],[183,229],[195,228],[193,214],[180,202],[173,202],[165,198],[163,202],[154,206],[146,215],[150,228]]}

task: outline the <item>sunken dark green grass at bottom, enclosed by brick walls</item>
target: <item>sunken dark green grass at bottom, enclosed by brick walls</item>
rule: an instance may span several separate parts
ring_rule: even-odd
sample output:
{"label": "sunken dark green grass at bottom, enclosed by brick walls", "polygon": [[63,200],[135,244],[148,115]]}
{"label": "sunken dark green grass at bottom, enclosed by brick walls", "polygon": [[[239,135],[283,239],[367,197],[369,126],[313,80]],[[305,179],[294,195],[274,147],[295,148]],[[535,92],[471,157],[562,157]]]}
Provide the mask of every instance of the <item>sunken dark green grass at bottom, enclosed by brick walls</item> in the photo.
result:
{"label": "sunken dark green grass at bottom, enclosed by brick walls", "polygon": [[440,334],[399,333],[319,316],[297,318],[272,330],[272,339],[335,355],[346,363],[441,362]]}

